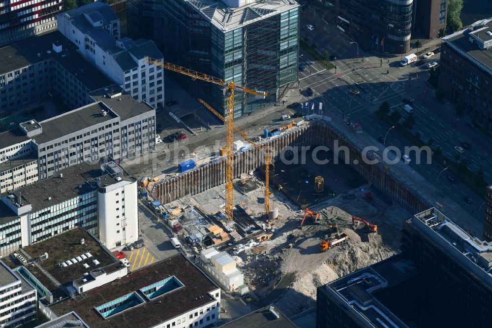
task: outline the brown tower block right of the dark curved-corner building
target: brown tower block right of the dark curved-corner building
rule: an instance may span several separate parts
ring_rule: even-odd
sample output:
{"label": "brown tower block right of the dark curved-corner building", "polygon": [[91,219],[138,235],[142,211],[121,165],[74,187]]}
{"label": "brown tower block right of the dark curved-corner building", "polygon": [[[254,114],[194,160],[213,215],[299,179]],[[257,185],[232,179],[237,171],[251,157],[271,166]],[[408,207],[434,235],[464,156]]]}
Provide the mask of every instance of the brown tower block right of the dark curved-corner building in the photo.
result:
{"label": "brown tower block right of the dark curved-corner building", "polygon": [[448,0],[414,0],[413,2],[414,38],[433,39],[437,37],[440,29],[446,30]]}

